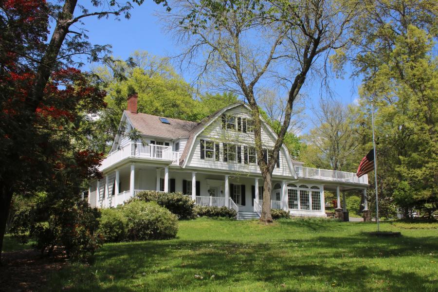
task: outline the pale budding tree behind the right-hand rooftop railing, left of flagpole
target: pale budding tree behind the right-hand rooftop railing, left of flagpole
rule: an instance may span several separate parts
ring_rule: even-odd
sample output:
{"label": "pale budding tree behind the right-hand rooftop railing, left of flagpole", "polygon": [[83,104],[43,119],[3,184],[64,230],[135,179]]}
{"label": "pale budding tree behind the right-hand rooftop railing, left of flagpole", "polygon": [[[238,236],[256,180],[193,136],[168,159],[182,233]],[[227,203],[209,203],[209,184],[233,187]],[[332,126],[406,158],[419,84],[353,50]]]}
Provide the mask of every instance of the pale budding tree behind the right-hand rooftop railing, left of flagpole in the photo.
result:
{"label": "pale budding tree behind the right-hand rooftop railing, left of flagpole", "polygon": [[354,152],[360,140],[354,110],[339,101],[321,99],[314,116],[316,127],[304,137],[307,143],[304,161],[320,168],[355,170]]}

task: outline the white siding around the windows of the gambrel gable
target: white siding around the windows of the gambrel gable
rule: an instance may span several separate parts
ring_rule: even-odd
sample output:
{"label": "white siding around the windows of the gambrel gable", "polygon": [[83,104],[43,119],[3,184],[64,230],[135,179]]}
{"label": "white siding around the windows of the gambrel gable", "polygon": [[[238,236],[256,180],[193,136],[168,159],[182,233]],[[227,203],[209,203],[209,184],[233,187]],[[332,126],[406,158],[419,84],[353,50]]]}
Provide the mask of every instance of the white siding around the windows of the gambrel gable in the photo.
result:
{"label": "white siding around the windows of the gambrel gable", "polygon": [[[246,117],[248,119],[251,118],[249,111],[243,106],[239,106],[237,108],[233,108],[225,112],[225,114],[236,115],[239,117]],[[274,146],[275,140],[274,137],[267,131],[265,127],[262,127],[262,141],[263,146],[266,148],[270,148]],[[219,161],[210,160],[210,159],[201,159],[200,157],[200,140],[215,140],[219,142],[220,147],[220,159]],[[233,143],[241,146],[241,163],[237,162],[224,162],[223,161],[223,142],[225,143]],[[194,141],[194,145],[191,153],[188,157],[187,167],[204,167],[204,168],[212,168],[212,169],[222,169],[229,170],[231,172],[253,172],[260,173],[260,169],[257,164],[244,164],[243,158],[243,146],[251,146],[254,145],[254,134],[253,133],[242,133],[239,131],[233,130],[224,130],[222,129],[222,120],[221,117],[217,118],[209,127],[204,129]],[[280,149],[280,167],[274,168],[274,175],[282,175],[282,176],[292,176],[289,165],[286,160],[286,155],[283,149]]]}

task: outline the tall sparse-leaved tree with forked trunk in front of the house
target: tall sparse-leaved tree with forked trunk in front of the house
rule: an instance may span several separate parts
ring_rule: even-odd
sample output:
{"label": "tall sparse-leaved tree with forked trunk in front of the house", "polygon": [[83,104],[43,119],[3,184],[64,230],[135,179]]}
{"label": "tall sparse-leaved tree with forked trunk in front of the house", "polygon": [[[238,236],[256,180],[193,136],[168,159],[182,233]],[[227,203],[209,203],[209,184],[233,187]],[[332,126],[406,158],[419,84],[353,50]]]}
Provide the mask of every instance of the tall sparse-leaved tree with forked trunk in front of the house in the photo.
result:
{"label": "tall sparse-leaved tree with forked trunk in front of the house", "polygon": [[[169,19],[170,29],[187,45],[183,59],[196,65],[197,53],[202,52],[206,58],[198,63],[199,79],[208,75],[204,81],[241,94],[251,108],[264,181],[260,220],[272,222],[272,172],[289,130],[293,103],[307,74],[325,67],[325,62],[317,62],[318,57],[327,59],[324,56],[331,49],[342,46],[354,7],[349,2],[326,0],[177,0],[172,5],[176,12]],[[284,66],[283,71],[280,66]],[[278,139],[268,150],[273,159],[265,162],[256,91],[268,77],[286,80],[289,85]]]}

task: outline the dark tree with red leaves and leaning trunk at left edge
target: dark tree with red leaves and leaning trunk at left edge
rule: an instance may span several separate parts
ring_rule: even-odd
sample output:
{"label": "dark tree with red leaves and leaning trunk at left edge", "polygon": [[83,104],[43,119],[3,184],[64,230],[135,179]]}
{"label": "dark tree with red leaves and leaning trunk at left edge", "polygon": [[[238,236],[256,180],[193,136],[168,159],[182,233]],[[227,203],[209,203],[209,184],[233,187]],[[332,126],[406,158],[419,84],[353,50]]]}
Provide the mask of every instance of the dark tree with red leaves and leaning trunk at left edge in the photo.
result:
{"label": "dark tree with red leaves and leaning trunk at left edge", "polygon": [[[14,193],[52,188],[54,194],[70,195],[78,178],[97,169],[98,153],[79,150],[79,142],[91,130],[86,127],[86,113],[103,106],[103,94],[91,84],[90,76],[71,67],[80,65],[76,55],[95,61],[108,52],[108,46],[91,45],[79,24],[92,16],[129,18],[132,5],[91,4],[97,11],[88,11],[77,0],[62,5],[0,1],[0,247]],[[47,42],[49,18],[56,24]],[[73,31],[73,26],[80,31]]]}

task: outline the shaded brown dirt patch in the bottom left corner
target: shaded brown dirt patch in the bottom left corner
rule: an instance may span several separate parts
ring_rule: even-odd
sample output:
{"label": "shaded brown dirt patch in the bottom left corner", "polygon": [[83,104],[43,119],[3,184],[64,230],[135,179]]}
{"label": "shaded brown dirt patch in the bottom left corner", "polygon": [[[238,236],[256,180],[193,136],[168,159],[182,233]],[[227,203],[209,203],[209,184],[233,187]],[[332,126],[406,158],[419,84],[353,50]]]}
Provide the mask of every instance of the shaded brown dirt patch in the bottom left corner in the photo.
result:
{"label": "shaded brown dirt patch in the bottom left corner", "polygon": [[47,281],[47,276],[65,263],[65,256],[41,257],[35,250],[3,253],[0,292],[38,291]]}

